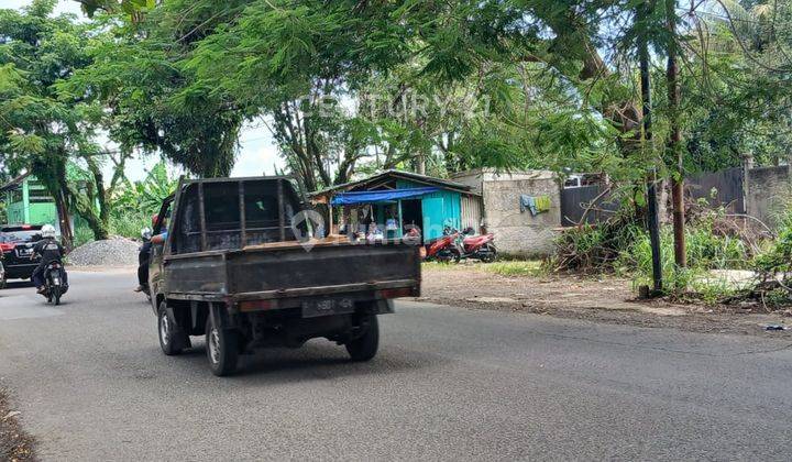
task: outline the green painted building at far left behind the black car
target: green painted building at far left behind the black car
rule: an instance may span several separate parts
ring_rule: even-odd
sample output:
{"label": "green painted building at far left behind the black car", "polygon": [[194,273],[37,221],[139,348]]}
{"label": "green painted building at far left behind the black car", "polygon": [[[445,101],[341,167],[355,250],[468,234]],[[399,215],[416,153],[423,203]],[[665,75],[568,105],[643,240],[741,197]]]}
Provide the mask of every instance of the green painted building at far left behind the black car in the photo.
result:
{"label": "green painted building at far left behind the black car", "polygon": [[58,215],[55,199],[31,174],[23,174],[0,187],[6,205],[7,223],[55,224]]}

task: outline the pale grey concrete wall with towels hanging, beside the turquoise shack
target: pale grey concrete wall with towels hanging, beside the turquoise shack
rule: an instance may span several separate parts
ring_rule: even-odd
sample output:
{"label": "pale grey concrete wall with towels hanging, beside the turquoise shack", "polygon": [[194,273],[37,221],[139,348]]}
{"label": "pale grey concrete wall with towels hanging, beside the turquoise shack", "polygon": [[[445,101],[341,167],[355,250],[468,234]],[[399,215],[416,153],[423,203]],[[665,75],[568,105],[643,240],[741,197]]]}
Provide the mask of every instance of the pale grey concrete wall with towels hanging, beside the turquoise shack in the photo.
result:
{"label": "pale grey concrete wall with towels hanging, beside the turquoise shack", "polygon": [[[556,229],[561,226],[561,188],[553,173],[473,170],[459,174],[453,180],[482,194],[484,222],[487,231],[495,234],[501,253],[519,256],[552,253]],[[549,196],[550,211],[536,217],[529,211],[520,212],[520,195]]]}

